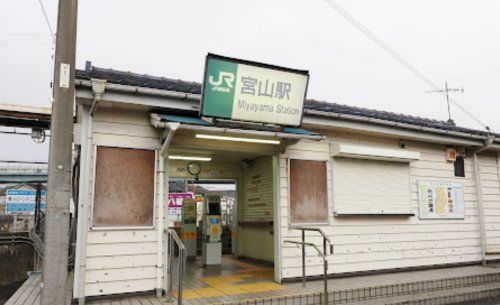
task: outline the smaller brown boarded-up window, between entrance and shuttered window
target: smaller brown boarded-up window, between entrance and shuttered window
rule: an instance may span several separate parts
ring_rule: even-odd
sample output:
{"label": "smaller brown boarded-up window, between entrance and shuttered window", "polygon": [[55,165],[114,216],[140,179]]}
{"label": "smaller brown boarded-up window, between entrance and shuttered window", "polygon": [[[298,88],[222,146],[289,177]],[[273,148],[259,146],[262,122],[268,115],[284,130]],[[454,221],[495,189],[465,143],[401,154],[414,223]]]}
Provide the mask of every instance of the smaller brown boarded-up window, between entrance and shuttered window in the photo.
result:
{"label": "smaller brown boarded-up window, between entrance and shuttered window", "polygon": [[326,161],[290,160],[290,222],[328,223]]}

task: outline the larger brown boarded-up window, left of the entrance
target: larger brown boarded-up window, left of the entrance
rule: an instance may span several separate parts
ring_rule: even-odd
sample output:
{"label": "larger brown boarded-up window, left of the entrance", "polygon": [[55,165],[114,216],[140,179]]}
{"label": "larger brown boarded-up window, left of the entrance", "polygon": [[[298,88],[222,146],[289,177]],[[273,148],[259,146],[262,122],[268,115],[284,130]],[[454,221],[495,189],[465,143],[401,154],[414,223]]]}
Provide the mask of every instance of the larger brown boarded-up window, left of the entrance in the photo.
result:
{"label": "larger brown boarded-up window, left of the entrance", "polygon": [[97,147],[94,227],[153,225],[155,151]]}

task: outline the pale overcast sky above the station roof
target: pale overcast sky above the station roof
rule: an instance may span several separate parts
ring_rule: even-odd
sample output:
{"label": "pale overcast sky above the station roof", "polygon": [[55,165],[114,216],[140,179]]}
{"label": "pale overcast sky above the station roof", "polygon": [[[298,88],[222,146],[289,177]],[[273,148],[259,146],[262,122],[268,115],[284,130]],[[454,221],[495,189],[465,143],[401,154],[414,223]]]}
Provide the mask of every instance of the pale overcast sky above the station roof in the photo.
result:
{"label": "pale overcast sky above the station roof", "polygon": [[[57,1],[42,0],[56,29]],[[500,1],[338,0],[379,38],[500,132]],[[0,103],[50,107],[54,51],[37,0],[0,0]],[[445,99],[324,0],[81,0],[77,67],[202,81],[207,52],[310,71],[308,98],[447,119]],[[452,106],[462,126],[480,125]],[[47,145],[0,135],[0,159]],[[5,145],[9,143],[10,145]]]}

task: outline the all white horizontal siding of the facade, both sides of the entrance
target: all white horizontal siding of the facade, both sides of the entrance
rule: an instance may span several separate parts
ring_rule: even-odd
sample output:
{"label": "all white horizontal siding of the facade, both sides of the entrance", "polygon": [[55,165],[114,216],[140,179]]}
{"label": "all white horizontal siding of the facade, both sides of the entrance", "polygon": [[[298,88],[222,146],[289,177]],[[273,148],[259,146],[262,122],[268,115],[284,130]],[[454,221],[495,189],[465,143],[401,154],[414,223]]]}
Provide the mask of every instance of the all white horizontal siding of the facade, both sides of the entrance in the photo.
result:
{"label": "all white horizontal siding of the facade, both sides of the entrance", "polygon": [[[94,118],[93,145],[159,149],[158,132],[141,110],[99,108]],[[285,239],[299,239],[298,231],[288,230],[287,157],[330,160],[329,141],[397,148],[397,140],[332,133],[329,140],[318,143],[299,141],[289,146],[280,160],[281,264],[282,278],[301,274],[300,250],[283,244]],[[415,217],[334,217],[333,172],[328,165],[330,198],[329,225],[321,226],[335,243],[330,256],[330,272],[356,272],[411,266],[426,266],[478,261],[480,253],[477,195],[472,158],[466,158],[466,177],[454,177],[453,163],[445,160],[445,146],[407,143],[408,150],[421,152],[421,160],[410,164],[411,210]],[[94,173],[94,151],[90,164]],[[500,173],[494,155],[479,157],[486,215],[487,243],[500,247]],[[91,179],[92,179],[91,177]],[[419,220],[417,180],[445,180],[464,185],[465,219]],[[92,181],[91,185],[92,185]],[[390,186],[388,186],[390,187]],[[157,187],[158,189],[158,187]],[[92,190],[89,190],[92,198]],[[158,201],[157,203],[158,204]],[[92,207],[88,203],[89,217]],[[157,209],[157,207],[155,207]],[[155,214],[157,215],[157,214]],[[164,221],[164,220],[163,220]],[[155,220],[155,223],[158,219]],[[90,219],[89,219],[90,223]],[[142,290],[156,286],[156,229],[90,230],[86,245],[86,296],[106,295]],[[316,234],[308,240],[321,244]],[[321,259],[308,249],[308,275],[321,274]]]}

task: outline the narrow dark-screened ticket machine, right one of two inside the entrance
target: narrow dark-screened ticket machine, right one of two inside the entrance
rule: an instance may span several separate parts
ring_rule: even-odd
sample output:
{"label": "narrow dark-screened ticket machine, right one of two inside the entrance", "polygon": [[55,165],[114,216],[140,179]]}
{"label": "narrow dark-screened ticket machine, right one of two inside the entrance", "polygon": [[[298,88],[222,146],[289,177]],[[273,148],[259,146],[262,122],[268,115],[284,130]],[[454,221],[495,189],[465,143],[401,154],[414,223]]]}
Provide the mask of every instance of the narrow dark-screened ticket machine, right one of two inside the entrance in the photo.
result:
{"label": "narrow dark-screened ticket machine, right one of two inside the entrance", "polygon": [[220,196],[206,195],[202,218],[203,265],[220,265],[222,260],[222,218]]}

